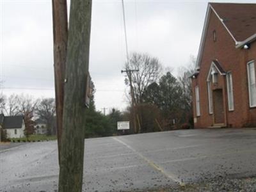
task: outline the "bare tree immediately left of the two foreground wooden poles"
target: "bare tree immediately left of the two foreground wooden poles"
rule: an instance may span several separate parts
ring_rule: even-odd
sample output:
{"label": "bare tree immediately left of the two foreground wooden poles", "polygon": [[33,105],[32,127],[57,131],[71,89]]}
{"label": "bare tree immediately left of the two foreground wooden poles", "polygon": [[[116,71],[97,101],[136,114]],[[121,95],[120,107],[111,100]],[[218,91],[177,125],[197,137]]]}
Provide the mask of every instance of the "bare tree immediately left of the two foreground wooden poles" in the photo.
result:
{"label": "bare tree immediately left of the two foreground wooden poles", "polygon": [[36,108],[36,115],[47,125],[47,134],[54,133],[55,102],[53,98],[42,99]]}

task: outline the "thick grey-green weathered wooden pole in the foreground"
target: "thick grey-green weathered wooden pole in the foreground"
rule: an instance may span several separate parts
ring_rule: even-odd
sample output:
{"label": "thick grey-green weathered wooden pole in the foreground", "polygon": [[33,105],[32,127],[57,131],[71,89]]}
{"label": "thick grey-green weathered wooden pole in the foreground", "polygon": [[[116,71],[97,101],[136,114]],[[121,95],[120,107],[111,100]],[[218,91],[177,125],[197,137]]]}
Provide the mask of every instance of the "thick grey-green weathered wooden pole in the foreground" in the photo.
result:
{"label": "thick grey-green weathered wooden pole in the foreground", "polygon": [[59,192],[81,192],[83,186],[86,88],[92,0],[72,0],[68,28]]}

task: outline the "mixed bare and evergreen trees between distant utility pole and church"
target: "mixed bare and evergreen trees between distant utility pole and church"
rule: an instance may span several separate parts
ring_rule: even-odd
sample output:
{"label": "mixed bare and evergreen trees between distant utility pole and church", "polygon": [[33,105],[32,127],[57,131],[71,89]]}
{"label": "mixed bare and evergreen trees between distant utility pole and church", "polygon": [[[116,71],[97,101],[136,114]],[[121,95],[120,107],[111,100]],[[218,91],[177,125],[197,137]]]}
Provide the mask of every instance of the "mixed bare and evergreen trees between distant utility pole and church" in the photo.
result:
{"label": "mixed bare and evergreen trees between distant utility pole and church", "polygon": [[124,67],[129,71],[125,84],[131,87],[127,112],[132,132],[193,127],[189,77],[195,70],[195,58],[191,57],[188,67],[179,68],[177,77],[172,70],[164,69],[157,58],[138,52],[131,54]]}

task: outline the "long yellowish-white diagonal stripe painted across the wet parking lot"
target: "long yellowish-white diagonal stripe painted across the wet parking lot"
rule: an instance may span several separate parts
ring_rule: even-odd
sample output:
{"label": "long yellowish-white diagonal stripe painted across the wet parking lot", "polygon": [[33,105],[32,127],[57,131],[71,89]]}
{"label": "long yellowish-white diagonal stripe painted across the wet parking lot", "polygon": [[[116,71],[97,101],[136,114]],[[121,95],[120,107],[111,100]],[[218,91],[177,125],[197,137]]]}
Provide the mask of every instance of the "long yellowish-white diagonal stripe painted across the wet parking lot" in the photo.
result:
{"label": "long yellowish-white diagonal stripe painted across the wet parking lot", "polygon": [[174,175],[173,173],[170,172],[166,172],[161,166],[159,166],[159,164],[154,163],[153,161],[151,161],[150,159],[147,159],[147,157],[143,156],[140,152],[138,152],[137,150],[135,150],[134,148],[132,148],[130,145],[128,145],[127,143],[124,143],[124,141],[119,140],[118,138],[114,138],[113,140],[118,141],[119,143],[122,143],[123,145],[125,145],[125,147],[131,149],[135,154],[137,154],[138,156],[141,157],[141,159],[143,159],[144,161],[146,161],[152,168],[154,168],[155,170],[157,170],[158,172],[161,172],[164,176],[168,177],[169,179],[172,179],[175,182],[178,182],[180,184],[180,186],[184,186],[184,182],[182,182],[176,175]]}

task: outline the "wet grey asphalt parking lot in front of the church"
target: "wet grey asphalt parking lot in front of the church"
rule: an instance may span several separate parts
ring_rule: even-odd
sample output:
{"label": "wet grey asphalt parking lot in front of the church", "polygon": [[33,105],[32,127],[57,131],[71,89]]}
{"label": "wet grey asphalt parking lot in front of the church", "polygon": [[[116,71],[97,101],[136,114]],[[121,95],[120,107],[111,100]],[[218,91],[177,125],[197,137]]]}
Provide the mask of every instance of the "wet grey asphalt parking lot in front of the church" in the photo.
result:
{"label": "wet grey asphalt parking lot in front of the church", "polygon": [[[256,129],[155,132],[86,140],[83,191],[172,188],[256,175]],[[58,189],[56,141],[0,151],[0,191]]]}

